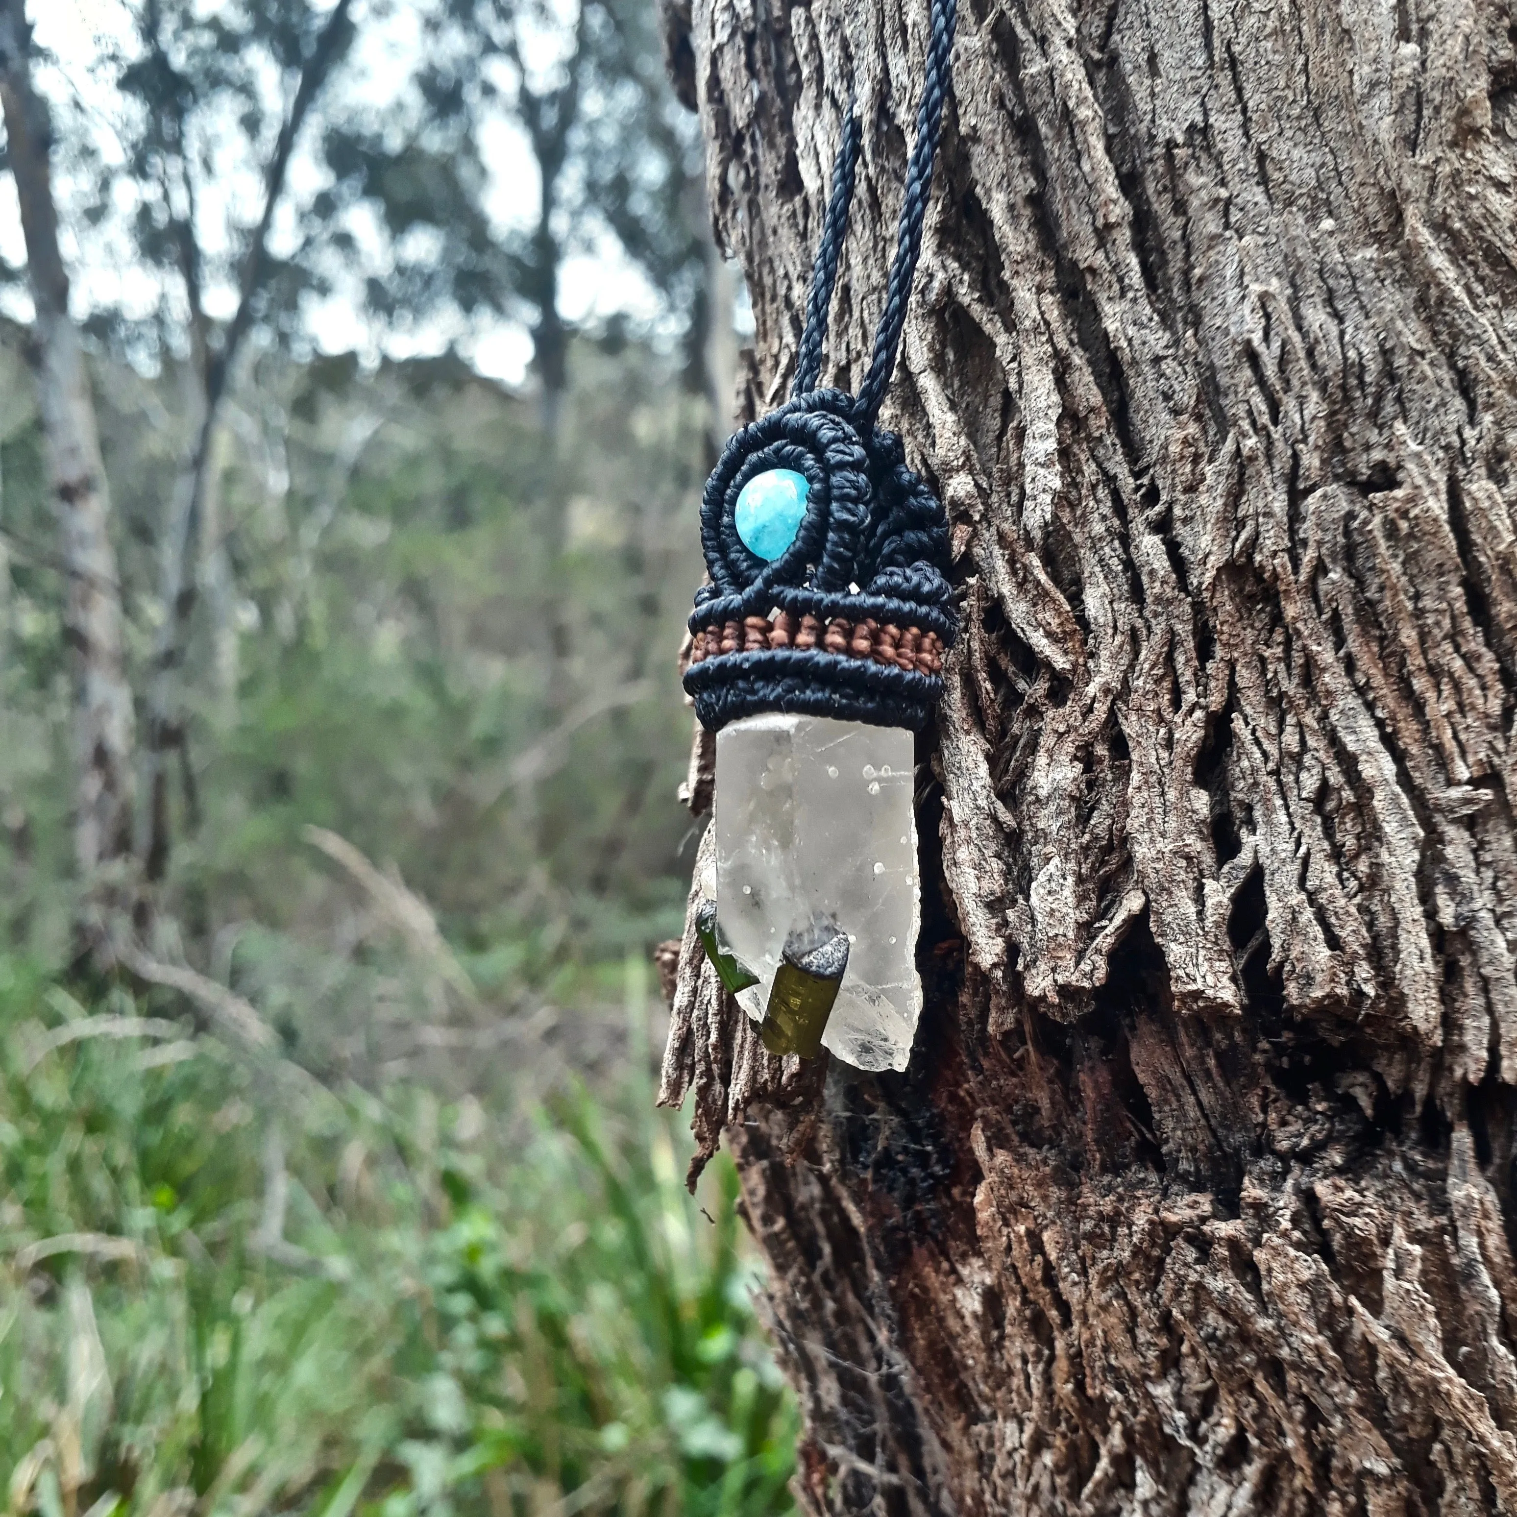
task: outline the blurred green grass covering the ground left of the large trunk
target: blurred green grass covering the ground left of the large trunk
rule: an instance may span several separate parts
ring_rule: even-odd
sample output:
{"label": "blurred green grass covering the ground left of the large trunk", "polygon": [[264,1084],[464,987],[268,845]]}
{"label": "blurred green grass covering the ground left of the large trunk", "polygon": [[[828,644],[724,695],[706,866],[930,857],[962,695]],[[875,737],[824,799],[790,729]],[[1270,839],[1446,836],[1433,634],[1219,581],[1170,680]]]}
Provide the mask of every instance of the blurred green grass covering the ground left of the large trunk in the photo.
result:
{"label": "blurred green grass covering the ground left of the large trunk", "polygon": [[444,1101],[164,1012],[0,960],[9,1512],[790,1509],[736,1176],[640,1073]]}

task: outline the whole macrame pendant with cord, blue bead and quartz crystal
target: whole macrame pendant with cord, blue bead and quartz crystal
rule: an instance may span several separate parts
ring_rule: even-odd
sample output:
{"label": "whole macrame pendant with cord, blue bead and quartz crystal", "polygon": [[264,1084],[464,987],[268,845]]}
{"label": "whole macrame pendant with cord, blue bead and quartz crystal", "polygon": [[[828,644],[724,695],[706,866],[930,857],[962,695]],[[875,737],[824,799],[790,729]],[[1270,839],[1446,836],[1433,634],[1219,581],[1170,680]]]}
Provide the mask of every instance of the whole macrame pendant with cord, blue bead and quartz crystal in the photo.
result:
{"label": "whole macrame pendant with cord, blue bead and quartz crystal", "polygon": [[705,485],[710,583],[684,687],[716,736],[716,880],[698,928],[775,1054],[904,1069],[916,972],[915,734],[957,620],[942,505],[875,416],[921,247],[953,38],[933,0],[927,80],[886,309],[859,396],[816,388],[859,155],[850,114],[792,397],[727,443]]}

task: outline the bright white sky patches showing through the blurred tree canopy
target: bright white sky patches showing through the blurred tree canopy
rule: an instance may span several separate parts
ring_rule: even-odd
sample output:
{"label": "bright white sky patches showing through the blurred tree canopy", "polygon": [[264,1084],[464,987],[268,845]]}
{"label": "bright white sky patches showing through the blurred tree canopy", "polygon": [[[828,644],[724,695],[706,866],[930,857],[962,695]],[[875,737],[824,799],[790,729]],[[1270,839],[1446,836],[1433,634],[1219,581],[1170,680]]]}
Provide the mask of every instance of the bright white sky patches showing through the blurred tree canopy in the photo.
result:
{"label": "bright white sky patches showing through the blurred tree canopy", "polygon": [[[205,0],[202,9],[214,11],[223,0]],[[341,68],[334,74],[323,106],[328,115],[340,114],[344,100],[355,108],[373,109],[388,100],[402,108],[410,86],[410,71],[420,44],[420,14],[426,0],[360,0],[355,8],[358,38]],[[38,71],[38,83],[59,118],[59,137],[70,132],[90,138],[106,162],[120,162],[117,123],[123,102],[114,88],[120,61],[133,53],[132,14],[127,0],[29,0],[38,47],[52,65]],[[545,38],[551,50],[552,39]],[[320,130],[320,123],[313,123]],[[537,199],[537,170],[525,140],[504,114],[488,121],[481,133],[485,167],[490,173],[488,211],[496,225],[520,228],[529,223]],[[199,228],[208,250],[226,247],[229,225],[247,225],[258,214],[256,165],[237,158],[235,133],[221,144],[211,144],[217,155],[217,174],[209,193],[202,194]],[[130,252],[124,218],[133,209],[129,187],[117,190],[112,215],[99,226],[82,231],[91,191],[77,173],[70,173],[65,155],[55,164],[64,255],[74,285],[74,316],[100,308],[120,308],[129,316],[146,316],[164,297],[158,276],[141,267]],[[322,170],[309,153],[297,155],[291,165],[291,190],[308,194],[320,185]],[[294,212],[285,208],[276,223],[293,241]],[[379,255],[381,238],[370,226],[353,228],[361,243]],[[622,311],[639,320],[655,320],[658,300],[637,269],[604,234],[590,234],[587,246],[572,250],[563,265],[561,313],[570,323],[604,319]],[[26,258],[21,240],[15,187],[0,177],[0,253],[14,264]],[[449,343],[482,373],[507,382],[525,378],[531,340],[520,322],[496,317],[434,317],[411,328],[381,331],[363,309],[360,281],[308,308],[303,326],[311,344],[323,352],[356,350],[375,361],[381,353],[410,356],[441,352]],[[171,296],[170,296],[171,302]],[[206,291],[206,308],[226,319],[235,305],[231,288]],[[21,287],[0,291],[0,308],[21,320],[30,317],[30,303]]]}

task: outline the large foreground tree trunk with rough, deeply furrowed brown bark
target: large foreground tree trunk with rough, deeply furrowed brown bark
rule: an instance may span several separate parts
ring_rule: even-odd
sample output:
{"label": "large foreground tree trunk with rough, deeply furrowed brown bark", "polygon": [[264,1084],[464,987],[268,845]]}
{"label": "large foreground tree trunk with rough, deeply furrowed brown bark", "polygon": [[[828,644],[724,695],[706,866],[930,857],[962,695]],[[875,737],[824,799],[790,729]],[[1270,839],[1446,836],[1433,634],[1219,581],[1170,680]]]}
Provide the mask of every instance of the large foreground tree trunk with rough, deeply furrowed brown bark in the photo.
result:
{"label": "large foreground tree trunk with rough, deeply furrowed brown bark", "polygon": [[[695,0],[751,410],[851,71],[862,375],[925,12]],[[916,1053],[769,1060],[687,934],[666,1062],[733,1124],[812,1512],[1517,1509],[1512,39],[960,3],[886,408],[965,587]]]}

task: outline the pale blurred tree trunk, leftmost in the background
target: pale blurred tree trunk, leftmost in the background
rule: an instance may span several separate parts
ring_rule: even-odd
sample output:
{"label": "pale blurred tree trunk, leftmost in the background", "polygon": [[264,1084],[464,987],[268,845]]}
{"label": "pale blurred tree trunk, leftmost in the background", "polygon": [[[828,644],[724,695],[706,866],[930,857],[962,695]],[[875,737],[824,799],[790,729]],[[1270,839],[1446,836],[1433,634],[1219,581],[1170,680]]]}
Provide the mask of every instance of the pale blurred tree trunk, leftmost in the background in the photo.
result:
{"label": "pale blurred tree trunk, leftmost in the background", "polygon": [[[32,30],[23,0],[0,5],[0,103],[8,162],[26,237],[36,320],[32,360],[67,575],[65,625],[74,664],[74,863],[102,904],[99,871],[132,848],[132,690],[121,651],[121,587],[111,543],[111,496],[90,372],[68,316],[58,249],[47,108],[32,88]],[[97,938],[99,924],[90,928]],[[99,944],[96,944],[99,947]]]}

